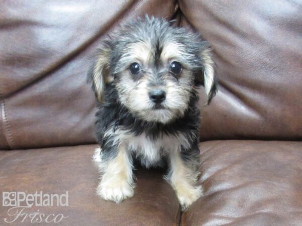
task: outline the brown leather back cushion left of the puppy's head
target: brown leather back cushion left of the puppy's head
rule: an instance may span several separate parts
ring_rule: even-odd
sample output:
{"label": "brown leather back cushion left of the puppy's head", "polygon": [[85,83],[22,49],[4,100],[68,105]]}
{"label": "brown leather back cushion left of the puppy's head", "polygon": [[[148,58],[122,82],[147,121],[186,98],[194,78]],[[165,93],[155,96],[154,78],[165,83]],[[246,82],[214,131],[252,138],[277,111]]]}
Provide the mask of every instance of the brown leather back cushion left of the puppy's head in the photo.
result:
{"label": "brown leather back cushion left of the puppy's head", "polygon": [[172,0],[2,1],[0,148],[94,143],[86,74],[100,39],[145,13],[171,19],[176,11]]}

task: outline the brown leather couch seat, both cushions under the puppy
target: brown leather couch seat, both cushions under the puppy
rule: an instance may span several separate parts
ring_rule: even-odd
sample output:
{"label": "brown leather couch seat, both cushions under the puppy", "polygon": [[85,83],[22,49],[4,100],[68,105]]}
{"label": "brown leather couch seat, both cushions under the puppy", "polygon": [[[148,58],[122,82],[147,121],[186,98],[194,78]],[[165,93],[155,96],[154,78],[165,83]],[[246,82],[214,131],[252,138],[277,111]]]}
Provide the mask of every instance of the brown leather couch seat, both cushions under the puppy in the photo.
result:
{"label": "brown leather couch seat, both cushions under the puppy", "polygon": [[[99,174],[91,160],[95,147],[1,151],[1,191],[68,191],[68,207],[31,208],[69,216],[62,225],[178,222],[179,204],[161,171],[135,171],[135,195],[118,205],[99,199],[94,190]],[[200,183],[205,193],[182,214],[182,225],[300,225],[300,142],[210,141],[201,143],[200,151]],[[0,206],[1,220],[7,210]]]}

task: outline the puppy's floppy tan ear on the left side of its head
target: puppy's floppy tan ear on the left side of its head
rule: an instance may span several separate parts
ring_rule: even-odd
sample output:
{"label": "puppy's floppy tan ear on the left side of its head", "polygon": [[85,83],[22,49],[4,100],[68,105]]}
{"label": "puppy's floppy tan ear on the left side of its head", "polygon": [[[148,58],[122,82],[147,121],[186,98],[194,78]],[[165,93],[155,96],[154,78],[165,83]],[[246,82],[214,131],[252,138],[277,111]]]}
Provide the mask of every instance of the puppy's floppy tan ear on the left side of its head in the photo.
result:
{"label": "puppy's floppy tan ear on the left side of its head", "polygon": [[92,88],[97,100],[102,103],[104,90],[107,83],[113,81],[109,73],[110,48],[100,49],[95,63],[88,71],[87,81],[92,83]]}

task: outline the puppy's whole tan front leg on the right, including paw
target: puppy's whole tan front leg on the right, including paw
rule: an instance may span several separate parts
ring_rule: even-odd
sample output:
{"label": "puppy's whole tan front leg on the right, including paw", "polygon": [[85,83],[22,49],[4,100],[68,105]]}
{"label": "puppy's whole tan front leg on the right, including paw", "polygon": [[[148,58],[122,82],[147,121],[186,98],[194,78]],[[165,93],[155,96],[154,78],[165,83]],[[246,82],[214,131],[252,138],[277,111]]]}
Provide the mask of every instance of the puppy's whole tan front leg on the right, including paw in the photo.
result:
{"label": "puppy's whole tan front leg on the right, including paw", "polygon": [[179,151],[170,153],[170,172],[166,178],[176,191],[183,211],[202,195],[201,185],[196,185],[197,165],[196,160],[182,159]]}

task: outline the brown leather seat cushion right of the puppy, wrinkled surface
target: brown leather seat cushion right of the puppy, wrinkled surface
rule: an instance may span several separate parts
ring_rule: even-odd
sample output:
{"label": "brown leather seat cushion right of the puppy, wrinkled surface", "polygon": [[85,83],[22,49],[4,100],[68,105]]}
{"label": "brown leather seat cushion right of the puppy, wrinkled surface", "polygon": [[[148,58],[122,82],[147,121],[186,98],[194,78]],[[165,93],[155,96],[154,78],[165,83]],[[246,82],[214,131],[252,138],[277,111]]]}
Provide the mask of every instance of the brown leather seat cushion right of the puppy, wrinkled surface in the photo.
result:
{"label": "brown leather seat cushion right of the puppy, wrinkled surface", "polygon": [[205,194],[183,225],[301,225],[302,142],[200,145]]}

